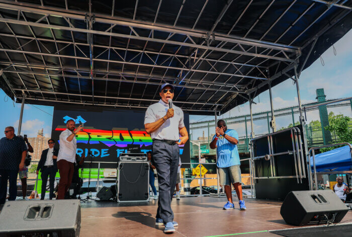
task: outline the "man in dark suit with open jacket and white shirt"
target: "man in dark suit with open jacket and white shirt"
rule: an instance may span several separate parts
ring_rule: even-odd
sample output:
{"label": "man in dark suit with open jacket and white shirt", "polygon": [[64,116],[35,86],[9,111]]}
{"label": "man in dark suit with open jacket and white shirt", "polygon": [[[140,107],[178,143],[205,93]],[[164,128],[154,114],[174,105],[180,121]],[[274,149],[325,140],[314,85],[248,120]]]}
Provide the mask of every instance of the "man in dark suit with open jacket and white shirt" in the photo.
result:
{"label": "man in dark suit with open jacket and white shirt", "polygon": [[43,150],[42,156],[40,157],[40,161],[37,167],[37,175],[39,174],[39,171],[41,171],[41,178],[42,178],[42,194],[40,198],[41,200],[44,200],[44,197],[45,197],[46,183],[48,181],[48,176],[49,176],[49,187],[50,187],[50,193],[49,193],[50,200],[54,196],[54,182],[55,182],[55,176],[57,172],[56,159],[57,159],[59,150],[54,148],[55,141],[53,139],[48,140],[48,145],[49,145],[49,148]]}

